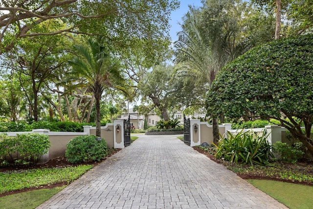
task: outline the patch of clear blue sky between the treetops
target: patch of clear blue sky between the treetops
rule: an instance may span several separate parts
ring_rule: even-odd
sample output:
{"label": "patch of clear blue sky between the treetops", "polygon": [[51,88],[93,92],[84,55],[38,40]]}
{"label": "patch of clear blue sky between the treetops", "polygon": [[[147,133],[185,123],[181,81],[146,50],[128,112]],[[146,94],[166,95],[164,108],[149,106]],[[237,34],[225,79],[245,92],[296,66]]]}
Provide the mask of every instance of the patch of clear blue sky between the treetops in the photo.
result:
{"label": "patch of clear blue sky between the treetops", "polygon": [[170,36],[172,41],[177,41],[177,32],[181,31],[181,27],[178,23],[181,23],[181,18],[188,12],[188,5],[202,6],[201,0],[180,0],[179,9],[175,10],[171,14],[171,20],[169,21],[172,25],[170,29]]}

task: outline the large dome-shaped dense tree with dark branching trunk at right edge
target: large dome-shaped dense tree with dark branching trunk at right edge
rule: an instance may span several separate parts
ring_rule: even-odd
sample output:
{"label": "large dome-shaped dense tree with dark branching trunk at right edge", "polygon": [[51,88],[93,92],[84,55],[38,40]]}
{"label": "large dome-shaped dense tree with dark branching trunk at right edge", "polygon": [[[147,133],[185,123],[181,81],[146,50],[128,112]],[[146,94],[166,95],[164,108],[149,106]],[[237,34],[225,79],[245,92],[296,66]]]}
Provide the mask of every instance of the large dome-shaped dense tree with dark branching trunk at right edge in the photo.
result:
{"label": "large dome-shaped dense tree with dark branching trunk at right edge", "polygon": [[303,142],[313,159],[312,78],[312,34],[257,46],[220,71],[207,95],[208,113],[274,118]]}

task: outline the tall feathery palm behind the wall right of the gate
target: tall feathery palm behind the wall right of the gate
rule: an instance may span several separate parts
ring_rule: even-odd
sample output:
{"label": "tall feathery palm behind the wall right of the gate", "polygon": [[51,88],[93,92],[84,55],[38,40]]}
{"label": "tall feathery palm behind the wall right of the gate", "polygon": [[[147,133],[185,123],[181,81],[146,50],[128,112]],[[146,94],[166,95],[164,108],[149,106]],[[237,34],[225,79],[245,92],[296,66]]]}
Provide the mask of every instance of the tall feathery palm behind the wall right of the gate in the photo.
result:
{"label": "tall feathery palm behind the wall right of the gate", "polygon": [[[182,64],[177,70],[178,75],[194,76],[198,80],[211,86],[215,76],[221,70],[226,61],[221,42],[217,37],[214,42],[208,39],[208,34],[201,27],[196,10],[191,10],[185,16],[182,31],[178,33],[179,40],[174,43],[176,47],[176,64]],[[211,37],[212,39],[212,37]],[[219,127],[217,117],[213,117],[213,139],[217,143],[219,140]]]}

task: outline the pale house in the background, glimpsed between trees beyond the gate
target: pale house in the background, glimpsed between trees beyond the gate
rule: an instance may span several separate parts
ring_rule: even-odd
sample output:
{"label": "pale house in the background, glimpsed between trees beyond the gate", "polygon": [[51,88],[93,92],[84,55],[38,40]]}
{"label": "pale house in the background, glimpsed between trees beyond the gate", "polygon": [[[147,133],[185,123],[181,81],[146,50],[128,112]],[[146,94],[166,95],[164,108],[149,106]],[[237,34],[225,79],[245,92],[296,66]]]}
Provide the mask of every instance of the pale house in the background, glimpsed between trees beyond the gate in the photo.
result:
{"label": "pale house in the background, glimpsed between trees beyond the gate", "polygon": [[[134,111],[133,108],[129,109],[129,113],[122,113],[121,118],[119,120],[127,120],[128,116],[131,117],[131,127],[134,126],[135,129],[143,129],[144,126],[144,119],[143,115],[138,115],[137,111]],[[177,112],[174,114],[174,119],[178,118],[180,123],[184,122],[183,114],[181,112]],[[155,113],[149,113],[146,116],[147,125],[148,126],[155,126],[157,121],[160,121],[161,118],[156,115]]]}

